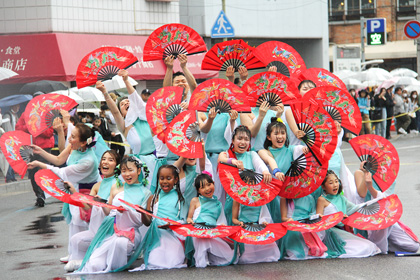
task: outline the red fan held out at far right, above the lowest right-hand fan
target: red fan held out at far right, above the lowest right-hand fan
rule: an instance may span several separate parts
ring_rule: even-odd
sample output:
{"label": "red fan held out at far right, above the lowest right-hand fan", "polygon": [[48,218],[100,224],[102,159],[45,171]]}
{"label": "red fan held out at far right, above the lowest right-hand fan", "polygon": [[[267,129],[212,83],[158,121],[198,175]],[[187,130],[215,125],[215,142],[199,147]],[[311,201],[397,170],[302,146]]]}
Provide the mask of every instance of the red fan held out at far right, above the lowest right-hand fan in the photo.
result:
{"label": "red fan held out at far right, above the lowest right-hand fan", "polygon": [[360,161],[366,161],[365,169],[372,173],[372,179],[384,192],[397,178],[400,159],[395,147],[385,138],[365,134],[349,141]]}

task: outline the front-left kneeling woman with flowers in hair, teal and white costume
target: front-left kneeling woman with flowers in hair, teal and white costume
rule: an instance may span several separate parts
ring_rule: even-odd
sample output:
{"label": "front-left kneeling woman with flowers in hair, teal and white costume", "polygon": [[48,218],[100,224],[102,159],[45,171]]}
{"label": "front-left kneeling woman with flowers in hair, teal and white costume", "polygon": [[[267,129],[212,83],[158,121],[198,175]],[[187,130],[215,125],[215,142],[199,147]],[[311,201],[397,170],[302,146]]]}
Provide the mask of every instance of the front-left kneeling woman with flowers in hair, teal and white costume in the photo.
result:
{"label": "front-left kneeling woman with flowers in hair, teal and white costume", "polygon": [[[139,256],[138,247],[142,240],[139,227],[142,225],[142,216],[120,199],[146,207],[147,201],[152,196],[145,187],[146,182],[143,179],[148,171],[144,163],[134,156],[125,157],[121,161],[120,170],[125,183],[123,186],[120,184],[112,186],[109,201],[112,205],[123,207],[124,211],[102,208],[109,216],[98,229],[81,267],[75,273],[124,270]],[[142,179],[141,182],[139,178]]]}

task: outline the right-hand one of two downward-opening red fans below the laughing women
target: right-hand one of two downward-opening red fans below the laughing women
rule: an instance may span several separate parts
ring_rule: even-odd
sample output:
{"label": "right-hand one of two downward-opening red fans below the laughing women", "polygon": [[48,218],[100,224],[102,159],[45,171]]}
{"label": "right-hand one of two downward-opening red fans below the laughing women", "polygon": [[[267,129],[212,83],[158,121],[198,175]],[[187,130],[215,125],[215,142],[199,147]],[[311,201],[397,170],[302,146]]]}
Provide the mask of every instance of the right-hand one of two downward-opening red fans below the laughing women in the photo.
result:
{"label": "right-hand one of two downward-opening red fans below the laughing women", "polygon": [[320,165],[311,153],[300,155],[285,173],[279,196],[295,199],[307,196],[322,184],[328,164]]}

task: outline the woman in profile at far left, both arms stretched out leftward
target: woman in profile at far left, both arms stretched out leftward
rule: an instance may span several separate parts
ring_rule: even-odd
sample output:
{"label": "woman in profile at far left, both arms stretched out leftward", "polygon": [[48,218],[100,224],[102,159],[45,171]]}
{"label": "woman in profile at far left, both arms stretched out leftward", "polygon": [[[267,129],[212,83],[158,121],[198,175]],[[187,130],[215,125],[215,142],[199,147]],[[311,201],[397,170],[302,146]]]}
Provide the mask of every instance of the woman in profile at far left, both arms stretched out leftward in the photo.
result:
{"label": "woman in profile at far left, both arms stretched out leftward", "polygon": [[[50,169],[64,181],[71,182],[76,191],[91,189],[96,182],[101,180],[98,172],[98,159],[92,149],[95,145],[95,142],[93,142],[94,136],[95,133],[90,127],[84,124],[77,124],[71,132],[70,145],[58,156],[47,153],[42,148],[33,145],[31,147],[34,154],[40,155],[55,166],[61,166],[64,163],[67,163],[67,166],[59,168],[36,160],[30,162],[28,168]],[[83,213],[81,211],[83,211],[81,208],[73,205],[64,204],[63,207],[62,213],[69,224],[69,255],[72,254],[72,248],[70,247],[71,237],[78,232],[88,229],[88,223],[86,219],[82,219]],[[68,256],[60,260],[67,262]]]}

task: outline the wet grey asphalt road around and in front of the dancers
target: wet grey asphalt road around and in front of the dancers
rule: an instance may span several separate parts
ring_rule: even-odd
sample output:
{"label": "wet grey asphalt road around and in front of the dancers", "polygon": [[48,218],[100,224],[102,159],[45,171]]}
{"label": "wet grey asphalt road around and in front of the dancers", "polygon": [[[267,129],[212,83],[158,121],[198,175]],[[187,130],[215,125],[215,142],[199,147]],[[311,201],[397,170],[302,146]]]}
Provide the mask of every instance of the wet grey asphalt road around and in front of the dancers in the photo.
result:
{"label": "wet grey asphalt road around and in front of the dancers", "polygon": [[[401,162],[396,193],[404,207],[402,221],[420,236],[420,136],[392,142]],[[350,145],[344,143],[342,151],[350,170],[356,170],[359,161]],[[420,279],[419,257],[393,255],[66,276],[59,262],[68,241],[62,204],[50,198],[46,207],[37,208],[28,185],[6,187],[0,185],[0,279]]]}

